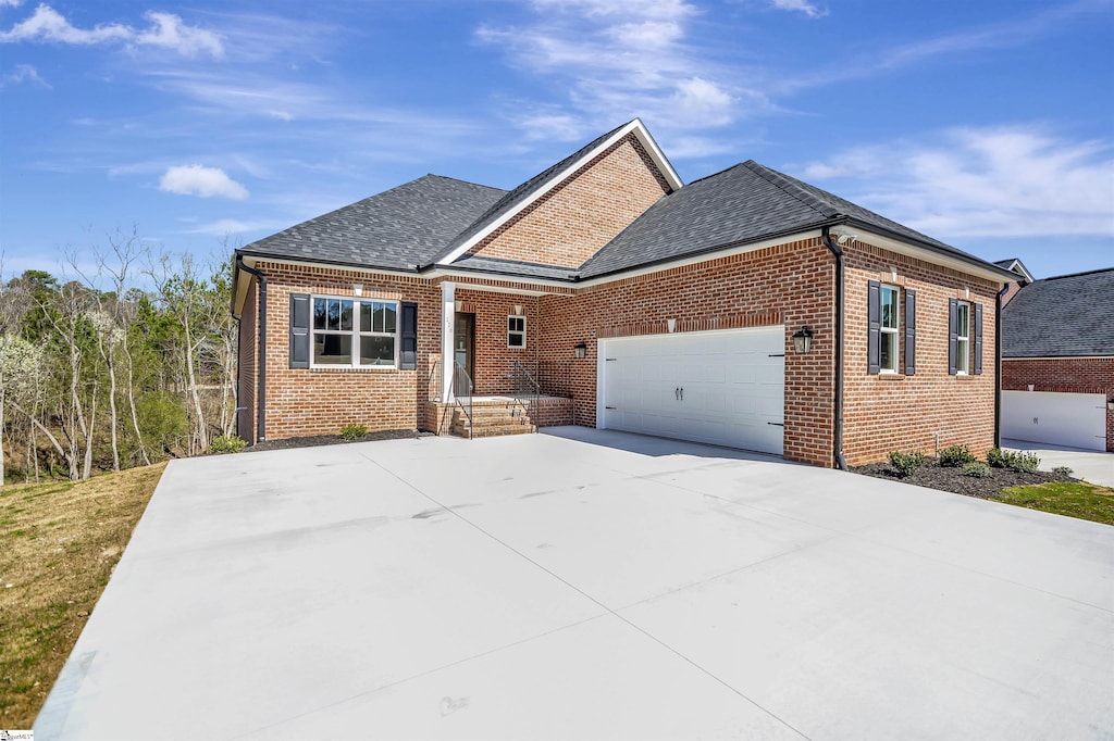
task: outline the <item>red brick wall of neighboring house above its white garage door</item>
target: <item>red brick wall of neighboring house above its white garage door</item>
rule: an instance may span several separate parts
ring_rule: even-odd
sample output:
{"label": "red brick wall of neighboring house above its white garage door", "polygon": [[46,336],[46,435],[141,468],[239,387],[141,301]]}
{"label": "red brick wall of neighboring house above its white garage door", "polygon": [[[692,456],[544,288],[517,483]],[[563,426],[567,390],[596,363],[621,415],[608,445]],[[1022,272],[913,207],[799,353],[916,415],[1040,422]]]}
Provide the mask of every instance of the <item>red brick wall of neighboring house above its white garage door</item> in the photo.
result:
{"label": "red brick wall of neighboring house above its white garage door", "polygon": [[[1114,357],[1001,362],[1003,391],[1105,394],[1114,398]],[[1114,411],[1106,408],[1106,449],[1114,453]]]}

